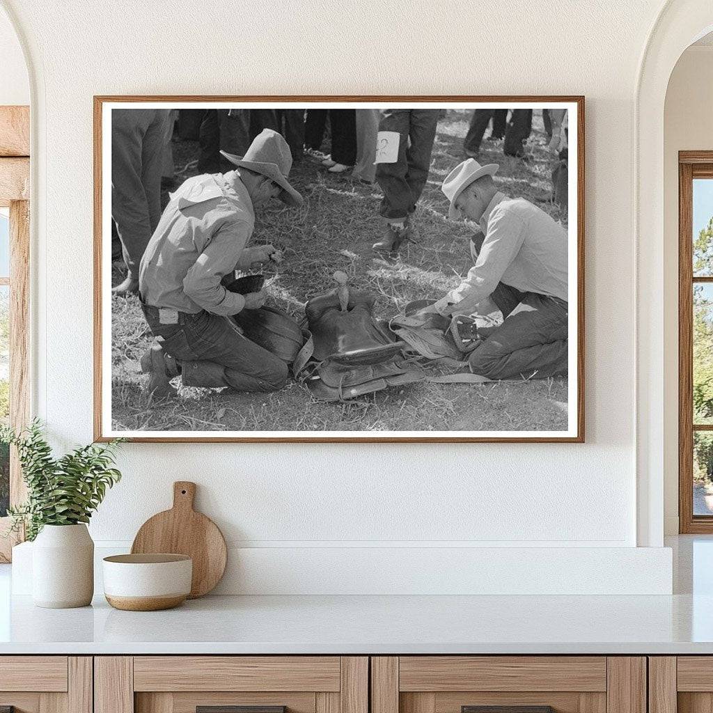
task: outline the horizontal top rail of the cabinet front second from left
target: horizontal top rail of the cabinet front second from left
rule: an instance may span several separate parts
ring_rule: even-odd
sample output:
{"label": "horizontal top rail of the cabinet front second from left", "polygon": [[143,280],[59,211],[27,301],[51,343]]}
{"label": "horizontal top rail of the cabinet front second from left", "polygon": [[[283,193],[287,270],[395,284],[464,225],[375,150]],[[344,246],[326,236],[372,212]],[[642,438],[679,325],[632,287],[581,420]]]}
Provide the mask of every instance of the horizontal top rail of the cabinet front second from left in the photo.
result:
{"label": "horizontal top rail of the cabinet front second from left", "polygon": [[135,691],[339,691],[338,656],[137,656]]}

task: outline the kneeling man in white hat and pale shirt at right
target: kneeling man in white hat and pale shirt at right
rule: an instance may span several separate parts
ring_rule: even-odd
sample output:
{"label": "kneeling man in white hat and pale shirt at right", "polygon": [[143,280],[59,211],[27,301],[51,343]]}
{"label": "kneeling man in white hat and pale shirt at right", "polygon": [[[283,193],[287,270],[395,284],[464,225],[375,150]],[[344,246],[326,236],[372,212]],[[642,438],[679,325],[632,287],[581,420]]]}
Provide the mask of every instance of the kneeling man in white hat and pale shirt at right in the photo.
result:
{"label": "kneeling man in white hat and pale shirt at right", "polygon": [[456,289],[432,307],[471,314],[488,297],[505,318],[478,329],[480,341],[468,357],[473,374],[489,379],[545,379],[566,375],[567,231],[523,198],[496,188],[498,165],[471,158],[443,181],[448,217],[476,222],[483,235],[471,240],[475,265]]}

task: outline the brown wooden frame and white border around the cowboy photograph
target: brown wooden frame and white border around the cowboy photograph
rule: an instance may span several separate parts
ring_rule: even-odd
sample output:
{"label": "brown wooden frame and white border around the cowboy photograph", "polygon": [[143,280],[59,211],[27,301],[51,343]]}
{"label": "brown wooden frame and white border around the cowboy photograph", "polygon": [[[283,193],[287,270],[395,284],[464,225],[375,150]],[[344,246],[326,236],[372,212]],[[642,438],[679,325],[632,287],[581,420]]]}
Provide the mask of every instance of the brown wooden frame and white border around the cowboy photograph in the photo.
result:
{"label": "brown wooden frame and white border around the cowboy photograph", "polygon": [[[570,202],[576,200],[576,212],[573,220],[573,212],[570,209],[570,229],[575,226],[576,238],[573,249],[570,249],[570,258],[574,254],[576,257],[576,270],[570,272],[569,279],[576,279],[576,286],[570,288],[571,296],[575,295],[576,306],[570,309],[571,323],[576,324],[576,336],[570,338],[570,342],[576,345],[576,367],[570,360],[570,379],[576,371],[576,388],[570,391],[568,399],[569,406],[575,406],[576,414],[570,419],[568,431],[563,431],[562,435],[547,434],[539,435],[528,433],[526,436],[518,435],[517,431],[498,436],[478,436],[463,435],[461,431],[453,431],[453,435],[434,436],[428,431],[419,432],[414,436],[401,436],[398,432],[389,432],[387,435],[380,435],[379,432],[370,432],[352,436],[351,434],[339,433],[338,435],[319,431],[310,431],[309,434],[299,432],[299,435],[289,435],[290,431],[282,431],[279,434],[270,436],[252,435],[250,431],[235,432],[224,431],[201,431],[198,435],[181,433],[173,436],[168,431],[161,431],[158,434],[152,431],[122,432],[114,431],[111,418],[106,413],[106,379],[110,365],[106,362],[106,344],[103,342],[103,314],[106,308],[106,294],[103,294],[103,270],[106,270],[106,175],[103,156],[108,150],[107,137],[103,133],[103,121],[106,111],[111,111],[113,105],[120,104],[123,108],[135,105],[135,108],[142,108],[148,103],[170,108],[192,108],[205,103],[209,104],[239,104],[252,105],[261,103],[284,103],[297,104],[302,106],[309,103],[373,103],[376,106],[389,106],[394,103],[424,103],[439,106],[456,105],[476,105],[481,103],[500,105],[560,105],[570,106],[575,109],[575,122],[570,122],[570,132],[576,128],[576,141],[570,141],[570,153],[576,147],[576,180],[570,183]],[[94,97],[94,437],[96,441],[108,441],[118,435],[125,436],[133,441],[140,442],[236,442],[236,443],[478,443],[478,442],[500,442],[500,443],[583,443],[585,440],[585,98],[583,96],[95,96]],[[570,233],[571,235],[571,233]],[[571,264],[571,263],[570,263]],[[111,393],[111,383],[110,393]],[[111,413],[111,411],[110,411]],[[284,434],[284,435],[283,435]]]}

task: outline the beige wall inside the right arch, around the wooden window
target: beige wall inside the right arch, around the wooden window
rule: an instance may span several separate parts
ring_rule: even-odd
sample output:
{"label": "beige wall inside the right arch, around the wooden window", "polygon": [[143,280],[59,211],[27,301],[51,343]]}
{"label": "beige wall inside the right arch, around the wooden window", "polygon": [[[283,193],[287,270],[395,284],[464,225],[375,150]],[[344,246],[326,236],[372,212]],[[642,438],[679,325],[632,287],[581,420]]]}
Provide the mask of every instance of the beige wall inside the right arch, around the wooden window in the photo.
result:
{"label": "beige wall inside the right arch, around the wooden window", "polygon": [[678,532],[678,152],[713,150],[713,45],[689,47],[666,93],[665,130],[665,523]]}

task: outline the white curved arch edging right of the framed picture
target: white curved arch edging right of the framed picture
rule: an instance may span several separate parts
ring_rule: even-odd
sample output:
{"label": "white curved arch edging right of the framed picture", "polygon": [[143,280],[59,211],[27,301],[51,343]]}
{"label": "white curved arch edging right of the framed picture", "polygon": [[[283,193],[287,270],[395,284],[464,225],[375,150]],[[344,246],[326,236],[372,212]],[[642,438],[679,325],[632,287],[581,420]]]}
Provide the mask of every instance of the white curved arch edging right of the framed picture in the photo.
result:
{"label": "white curved arch edging right of the framed picture", "polygon": [[637,542],[660,546],[664,527],[667,451],[665,379],[665,190],[664,108],[667,86],[684,50],[713,29],[709,0],[670,0],[652,28],[635,88],[637,176],[634,230],[637,250]]}

